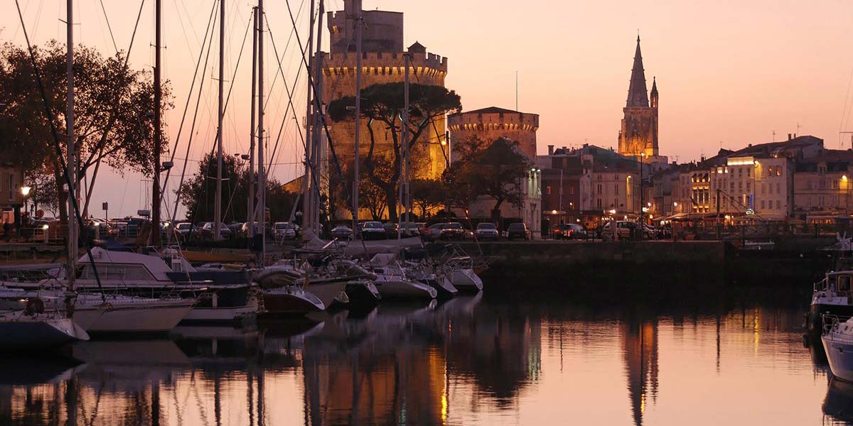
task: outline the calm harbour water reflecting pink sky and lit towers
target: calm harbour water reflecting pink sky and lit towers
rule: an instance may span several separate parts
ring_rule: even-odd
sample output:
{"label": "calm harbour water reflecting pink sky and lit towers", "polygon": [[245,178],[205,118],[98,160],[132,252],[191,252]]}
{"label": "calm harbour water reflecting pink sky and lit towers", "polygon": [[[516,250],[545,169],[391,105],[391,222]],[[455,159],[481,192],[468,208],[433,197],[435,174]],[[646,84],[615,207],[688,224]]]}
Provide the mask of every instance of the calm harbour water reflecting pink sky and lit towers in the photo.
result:
{"label": "calm harbour water reflecting pink sky and lit towers", "polygon": [[[729,303],[738,305],[738,303]],[[384,305],[2,360],[0,424],[846,424],[805,307]]]}

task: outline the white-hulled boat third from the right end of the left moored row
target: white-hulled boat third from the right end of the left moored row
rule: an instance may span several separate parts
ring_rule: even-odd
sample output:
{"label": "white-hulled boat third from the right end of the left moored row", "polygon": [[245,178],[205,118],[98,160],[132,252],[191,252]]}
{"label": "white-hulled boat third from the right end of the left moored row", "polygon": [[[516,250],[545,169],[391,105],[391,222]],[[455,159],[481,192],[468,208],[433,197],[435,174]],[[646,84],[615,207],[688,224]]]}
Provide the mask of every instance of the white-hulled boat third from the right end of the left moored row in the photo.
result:
{"label": "white-hulled boat third from the right end of the left moored row", "polygon": [[368,262],[368,271],[376,275],[374,285],[383,299],[434,299],[438,291],[409,279],[392,254],[379,253]]}

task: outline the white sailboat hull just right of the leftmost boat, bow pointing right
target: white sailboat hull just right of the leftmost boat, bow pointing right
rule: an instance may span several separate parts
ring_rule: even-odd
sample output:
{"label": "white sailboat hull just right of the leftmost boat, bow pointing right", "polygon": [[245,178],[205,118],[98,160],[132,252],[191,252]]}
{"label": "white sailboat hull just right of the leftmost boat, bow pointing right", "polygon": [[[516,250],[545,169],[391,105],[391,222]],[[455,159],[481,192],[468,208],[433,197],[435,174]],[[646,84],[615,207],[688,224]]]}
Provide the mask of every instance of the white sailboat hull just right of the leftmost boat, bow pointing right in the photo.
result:
{"label": "white sailboat hull just right of the leftmost boat, bow pointing right", "polygon": [[[78,302],[79,305],[79,302]],[[192,300],[139,299],[133,302],[97,304],[76,308],[74,321],[87,331],[115,332],[166,332],[193,307]]]}

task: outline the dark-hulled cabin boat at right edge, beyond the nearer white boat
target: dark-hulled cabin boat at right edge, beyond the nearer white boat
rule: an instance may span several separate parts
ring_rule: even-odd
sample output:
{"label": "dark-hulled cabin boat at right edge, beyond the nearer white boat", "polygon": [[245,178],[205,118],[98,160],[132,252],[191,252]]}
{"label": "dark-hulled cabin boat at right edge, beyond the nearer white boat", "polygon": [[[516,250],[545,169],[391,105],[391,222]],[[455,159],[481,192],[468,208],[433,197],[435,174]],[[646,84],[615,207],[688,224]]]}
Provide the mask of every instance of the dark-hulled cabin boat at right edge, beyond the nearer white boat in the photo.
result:
{"label": "dark-hulled cabin boat at right edge, beyond the nearer white boat", "polygon": [[821,334],[824,314],[853,316],[853,269],[827,272],[813,286],[807,321],[812,336]]}

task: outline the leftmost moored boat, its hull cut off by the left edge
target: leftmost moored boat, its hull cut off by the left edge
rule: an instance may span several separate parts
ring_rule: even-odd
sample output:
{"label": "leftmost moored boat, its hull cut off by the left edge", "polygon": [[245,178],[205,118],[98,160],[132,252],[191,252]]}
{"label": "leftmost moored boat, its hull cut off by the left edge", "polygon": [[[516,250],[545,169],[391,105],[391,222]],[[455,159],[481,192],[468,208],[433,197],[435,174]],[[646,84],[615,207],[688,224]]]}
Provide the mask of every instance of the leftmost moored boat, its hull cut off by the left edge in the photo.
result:
{"label": "leftmost moored boat, its hull cut off by the left edge", "polygon": [[58,312],[32,308],[0,312],[0,351],[59,348],[67,343],[89,340],[89,334]]}

